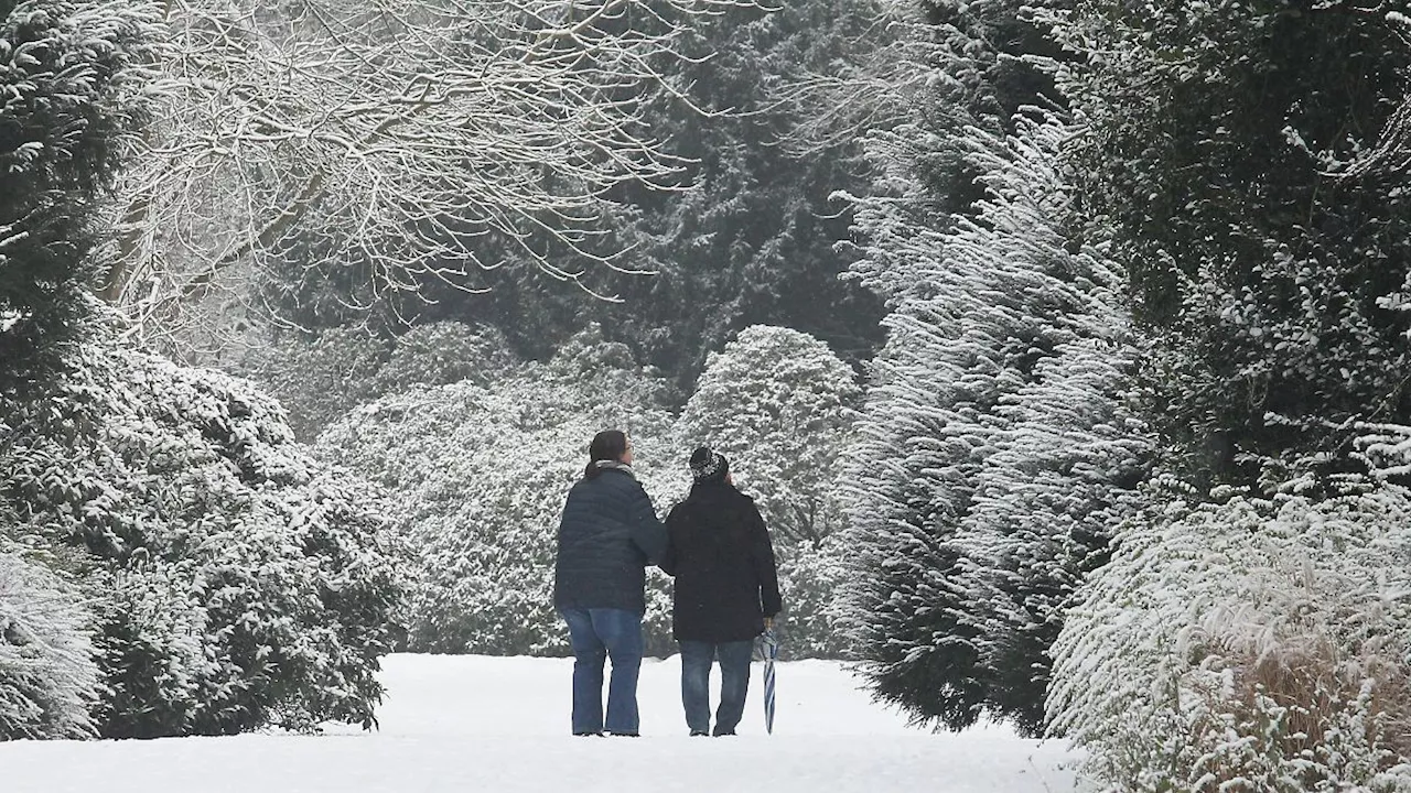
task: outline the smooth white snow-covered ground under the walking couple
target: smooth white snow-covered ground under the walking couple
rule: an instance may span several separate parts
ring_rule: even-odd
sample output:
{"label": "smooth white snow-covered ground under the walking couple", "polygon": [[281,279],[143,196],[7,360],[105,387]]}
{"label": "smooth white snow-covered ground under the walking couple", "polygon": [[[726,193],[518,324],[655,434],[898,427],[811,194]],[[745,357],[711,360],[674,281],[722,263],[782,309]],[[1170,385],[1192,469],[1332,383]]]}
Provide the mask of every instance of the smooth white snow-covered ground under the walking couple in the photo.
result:
{"label": "smooth white snow-covered ground under the walking couple", "polygon": [[[648,660],[642,738],[569,735],[570,660],[391,656],[381,731],[0,744],[3,793],[927,792],[1057,793],[1074,758],[1007,730],[931,734],[868,701],[837,663],[759,667],[737,738],[689,738],[676,658]],[[718,680],[714,682],[718,691]]]}

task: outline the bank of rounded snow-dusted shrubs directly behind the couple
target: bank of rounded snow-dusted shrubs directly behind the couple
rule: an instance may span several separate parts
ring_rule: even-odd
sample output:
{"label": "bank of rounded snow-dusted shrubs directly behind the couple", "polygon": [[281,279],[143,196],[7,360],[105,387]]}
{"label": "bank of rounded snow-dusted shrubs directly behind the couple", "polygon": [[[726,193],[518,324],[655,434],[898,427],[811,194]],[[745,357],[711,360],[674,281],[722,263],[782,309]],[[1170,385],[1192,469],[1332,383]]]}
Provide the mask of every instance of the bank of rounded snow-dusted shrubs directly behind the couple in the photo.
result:
{"label": "bank of rounded snow-dusted shrubs directly behind the couple", "polygon": [[[789,652],[842,652],[827,615],[841,576],[841,549],[827,539],[837,521],[830,477],[855,385],[827,346],[785,329],[748,330],[713,358],[680,423],[663,406],[670,385],[595,325],[547,364],[492,371],[495,378],[487,370],[384,396],[317,442],[320,456],[399,494],[398,523],[416,550],[412,649],[567,652],[552,598],[555,532],[588,440],[618,428],[634,439],[634,467],[660,515],[690,485],[691,444],[710,442],[729,454],[776,533],[797,532],[776,540]],[[659,571],[649,574],[646,632],[648,652],[674,650],[670,588]]]}

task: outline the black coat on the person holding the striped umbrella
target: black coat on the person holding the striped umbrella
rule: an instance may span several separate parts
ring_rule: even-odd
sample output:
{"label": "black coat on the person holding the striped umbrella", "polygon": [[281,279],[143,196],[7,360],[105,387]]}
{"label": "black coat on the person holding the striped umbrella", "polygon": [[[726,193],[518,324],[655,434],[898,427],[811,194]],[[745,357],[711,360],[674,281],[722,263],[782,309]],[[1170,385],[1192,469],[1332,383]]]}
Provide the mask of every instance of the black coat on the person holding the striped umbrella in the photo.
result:
{"label": "black coat on the person holding the striped umbrella", "polygon": [[779,614],[775,547],[755,500],[729,483],[698,483],[666,518],[662,570],[676,577],[672,635],[742,642]]}

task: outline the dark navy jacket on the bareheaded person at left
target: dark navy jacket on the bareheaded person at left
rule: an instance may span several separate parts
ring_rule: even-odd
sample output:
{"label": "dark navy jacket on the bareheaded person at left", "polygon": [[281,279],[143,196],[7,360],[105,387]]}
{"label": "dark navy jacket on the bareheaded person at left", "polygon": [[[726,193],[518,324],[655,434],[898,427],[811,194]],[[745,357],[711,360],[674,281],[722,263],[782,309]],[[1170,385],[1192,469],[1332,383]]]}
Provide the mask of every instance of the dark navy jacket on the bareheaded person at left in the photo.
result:
{"label": "dark navy jacket on the bareheaded person at left", "polygon": [[632,477],[604,468],[569,491],[559,521],[553,566],[556,608],[624,608],[646,612],[646,566],[666,550],[666,528]]}

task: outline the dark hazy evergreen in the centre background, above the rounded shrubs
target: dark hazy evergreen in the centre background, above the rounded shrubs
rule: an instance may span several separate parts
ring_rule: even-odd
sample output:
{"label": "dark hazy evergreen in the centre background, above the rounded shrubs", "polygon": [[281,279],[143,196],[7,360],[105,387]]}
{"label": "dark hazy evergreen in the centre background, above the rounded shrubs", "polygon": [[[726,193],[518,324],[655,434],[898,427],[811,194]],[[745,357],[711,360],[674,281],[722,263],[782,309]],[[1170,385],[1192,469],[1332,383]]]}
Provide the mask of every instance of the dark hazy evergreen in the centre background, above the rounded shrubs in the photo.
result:
{"label": "dark hazy evergreen in the centre background, above the rounded shrubs", "polygon": [[[641,264],[660,275],[624,284],[624,310],[602,316],[635,329],[643,358],[690,382],[710,351],[751,325],[787,326],[845,360],[871,357],[880,306],[842,281],[851,207],[837,190],[866,183],[855,144],[794,151],[782,141],[800,121],[776,102],[780,83],[821,68],[875,20],[852,3],[809,0],[745,8],[698,30],[698,63],[677,75],[684,96],[713,114],[663,97],[660,134],[697,162],[679,196],[629,196],[641,207]],[[663,198],[666,200],[663,200]]]}

